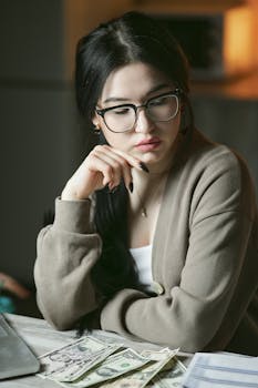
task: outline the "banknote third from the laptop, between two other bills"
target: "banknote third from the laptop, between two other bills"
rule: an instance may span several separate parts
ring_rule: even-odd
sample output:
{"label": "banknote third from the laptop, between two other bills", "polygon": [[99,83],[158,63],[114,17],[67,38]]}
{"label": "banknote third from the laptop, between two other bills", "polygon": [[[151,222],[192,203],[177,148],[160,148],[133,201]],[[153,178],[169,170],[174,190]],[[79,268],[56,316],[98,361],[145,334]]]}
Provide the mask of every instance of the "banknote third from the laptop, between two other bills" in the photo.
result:
{"label": "banknote third from the laptop, between two other bills", "polygon": [[177,354],[178,349],[169,350],[167,348],[152,351],[144,350],[141,353],[142,356],[147,357],[151,364],[143,366],[141,369],[126,374],[125,377],[115,379],[110,384],[102,385],[103,388],[143,388],[151,379],[164,368],[164,366]]}

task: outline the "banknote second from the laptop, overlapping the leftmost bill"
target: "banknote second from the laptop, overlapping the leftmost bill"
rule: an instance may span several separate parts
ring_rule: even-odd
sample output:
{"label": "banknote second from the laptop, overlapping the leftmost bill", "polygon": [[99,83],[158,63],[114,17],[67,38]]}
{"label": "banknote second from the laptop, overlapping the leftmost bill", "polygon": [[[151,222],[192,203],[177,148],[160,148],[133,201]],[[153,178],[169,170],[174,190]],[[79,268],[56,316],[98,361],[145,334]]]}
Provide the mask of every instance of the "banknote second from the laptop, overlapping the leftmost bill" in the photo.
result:
{"label": "banknote second from the laptop, overlapping the leftmost bill", "polygon": [[96,384],[100,385],[131,370],[142,368],[147,363],[149,363],[149,358],[143,357],[133,349],[127,348],[110,356],[76,381],[62,382],[62,386],[66,388],[85,388]]}

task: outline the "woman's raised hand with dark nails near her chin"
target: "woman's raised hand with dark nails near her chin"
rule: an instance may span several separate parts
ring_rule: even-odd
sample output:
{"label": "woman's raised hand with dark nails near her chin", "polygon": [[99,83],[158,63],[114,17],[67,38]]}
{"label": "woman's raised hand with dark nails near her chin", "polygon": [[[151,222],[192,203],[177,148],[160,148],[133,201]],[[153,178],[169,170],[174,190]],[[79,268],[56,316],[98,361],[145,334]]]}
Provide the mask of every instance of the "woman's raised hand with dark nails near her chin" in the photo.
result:
{"label": "woman's raised hand with dark nails near her chin", "polygon": [[126,187],[132,191],[131,170],[132,167],[143,170],[142,165],[140,160],[121,150],[110,145],[96,145],[69,180],[61,198],[85,200],[94,191],[106,185],[111,191],[114,190],[122,178]]}

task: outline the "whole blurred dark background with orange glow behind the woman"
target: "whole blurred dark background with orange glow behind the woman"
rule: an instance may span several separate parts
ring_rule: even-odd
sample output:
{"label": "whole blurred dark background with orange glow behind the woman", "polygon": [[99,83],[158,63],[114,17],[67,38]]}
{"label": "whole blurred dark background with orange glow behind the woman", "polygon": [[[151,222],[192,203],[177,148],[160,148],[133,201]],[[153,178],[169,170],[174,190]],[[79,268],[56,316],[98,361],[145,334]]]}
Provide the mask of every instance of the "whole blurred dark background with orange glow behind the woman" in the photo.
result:
{"label": "whole blurred dark background with orange glow behind the woman", "polygon": [[39,315],[35,238],[91,141],[74,104],[75,44],[133,9],[179,40],[197,126],[244,155],[258,188],[258,1],[0,0],[0,297],[18,314]]}

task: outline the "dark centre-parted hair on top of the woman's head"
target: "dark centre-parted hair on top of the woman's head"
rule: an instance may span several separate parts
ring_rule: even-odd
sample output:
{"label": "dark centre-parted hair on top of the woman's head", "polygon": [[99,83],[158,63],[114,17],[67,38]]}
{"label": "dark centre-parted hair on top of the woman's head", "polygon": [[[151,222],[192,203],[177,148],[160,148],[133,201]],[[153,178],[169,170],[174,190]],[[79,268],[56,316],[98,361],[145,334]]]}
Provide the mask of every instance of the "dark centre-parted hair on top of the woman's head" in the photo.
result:
{"label": "dark centre-parted hair on top of the woman's head", "polygon": [[76,103],[89,124],[107,76],[128,63],[149,64],[183,95],[189,91],[188,62],[179,44],[164,25],[140,12],[127,12],[83,37],[75,61]]}

